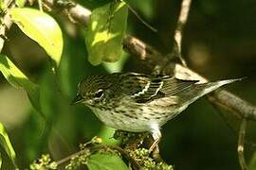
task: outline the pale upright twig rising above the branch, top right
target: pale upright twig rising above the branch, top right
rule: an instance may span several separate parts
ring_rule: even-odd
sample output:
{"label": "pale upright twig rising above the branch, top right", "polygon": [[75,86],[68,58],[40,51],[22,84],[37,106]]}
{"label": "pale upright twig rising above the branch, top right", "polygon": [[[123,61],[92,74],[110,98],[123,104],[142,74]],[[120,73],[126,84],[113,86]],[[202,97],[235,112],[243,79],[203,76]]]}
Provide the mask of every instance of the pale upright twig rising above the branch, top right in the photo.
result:
{"label": "pale upright twig rising above the branch, top right", "polygon": [[[182,32],[183,32],[183,27],[186,25],[188,16],[189,16],[189,11],[191,8],[192,0],[183,0],[181,3],[181,9],[177,21],[177,26],[174,31],[174,41],[177,43],[177,50],[178,50],[178,58],[180,59],[181,63],[184,66],[187,66],[186,61],[182,58],[181,51],[182,51]],[[175,46],[175,45],[174,45]]]}

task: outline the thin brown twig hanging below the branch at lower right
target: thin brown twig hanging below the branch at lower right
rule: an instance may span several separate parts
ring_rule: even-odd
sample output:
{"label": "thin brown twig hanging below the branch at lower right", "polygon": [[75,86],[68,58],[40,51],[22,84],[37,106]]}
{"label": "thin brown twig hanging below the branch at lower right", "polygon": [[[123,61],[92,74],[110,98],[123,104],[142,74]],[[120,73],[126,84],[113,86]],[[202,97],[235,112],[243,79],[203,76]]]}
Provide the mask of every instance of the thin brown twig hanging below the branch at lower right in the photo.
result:
{"label": "thin brown twig hanging below the branch at lower right", "polygon": [[247,131],[247,120],[243,119],[240,130],[239,130],[238,145],[237,145],[238,160],[242,170],[247,170],[247,162],[246,162],[245,153],[244,153],[246,131]]}

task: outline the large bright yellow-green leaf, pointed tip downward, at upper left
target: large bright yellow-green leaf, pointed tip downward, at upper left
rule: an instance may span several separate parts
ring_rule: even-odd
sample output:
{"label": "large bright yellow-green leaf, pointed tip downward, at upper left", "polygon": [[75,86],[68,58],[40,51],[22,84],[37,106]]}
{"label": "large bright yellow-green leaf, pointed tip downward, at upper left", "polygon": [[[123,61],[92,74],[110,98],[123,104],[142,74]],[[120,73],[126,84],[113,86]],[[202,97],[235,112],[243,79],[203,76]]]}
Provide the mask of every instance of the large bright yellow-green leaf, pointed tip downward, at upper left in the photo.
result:
{"label": "large bright yellow-green leaf, pointed tip downward, at upper left", "polygon": [[56,21],[33,8],[11,9],[11,19],[32,40],[38,42],[58,66],[63,52],[63,34]]}

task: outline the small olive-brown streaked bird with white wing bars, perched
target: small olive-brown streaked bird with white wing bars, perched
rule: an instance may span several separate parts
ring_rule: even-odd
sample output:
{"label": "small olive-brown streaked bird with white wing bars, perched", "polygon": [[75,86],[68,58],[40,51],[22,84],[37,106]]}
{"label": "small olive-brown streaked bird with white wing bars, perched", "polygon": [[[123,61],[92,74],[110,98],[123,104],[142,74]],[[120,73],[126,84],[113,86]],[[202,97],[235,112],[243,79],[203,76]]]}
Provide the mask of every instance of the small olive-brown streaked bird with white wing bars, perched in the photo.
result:
{"label": "small olive-brown streaked bird with white wing bars, perched", "polygon": [[152,134],[152,151],[161,138],[160,127],[199,97],[231,82],[200,83],[174,76],[115,73],[87,76],[78,85],[73,104],[82,103],[108,127]]}

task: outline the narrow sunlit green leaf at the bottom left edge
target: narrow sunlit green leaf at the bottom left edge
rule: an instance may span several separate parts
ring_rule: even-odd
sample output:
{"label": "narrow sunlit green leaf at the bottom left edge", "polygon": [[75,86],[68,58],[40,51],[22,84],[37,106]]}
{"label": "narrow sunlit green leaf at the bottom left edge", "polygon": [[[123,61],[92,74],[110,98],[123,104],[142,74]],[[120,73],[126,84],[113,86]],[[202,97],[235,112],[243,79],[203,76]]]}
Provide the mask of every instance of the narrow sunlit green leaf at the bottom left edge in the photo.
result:
{"label": "narrow sunlit green leaf at the bottom left edge", "polygon": [[[4,147],[5,151],[9,156],[9,159],[13,162],[14,166],[16,166],[16,163],[15,163],[16,154],[9,141],[8,133],[2,123],[0,123],[0,144]],[[1,159],[1,164],[2,164],[2,159]]]}

